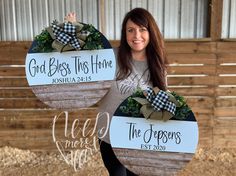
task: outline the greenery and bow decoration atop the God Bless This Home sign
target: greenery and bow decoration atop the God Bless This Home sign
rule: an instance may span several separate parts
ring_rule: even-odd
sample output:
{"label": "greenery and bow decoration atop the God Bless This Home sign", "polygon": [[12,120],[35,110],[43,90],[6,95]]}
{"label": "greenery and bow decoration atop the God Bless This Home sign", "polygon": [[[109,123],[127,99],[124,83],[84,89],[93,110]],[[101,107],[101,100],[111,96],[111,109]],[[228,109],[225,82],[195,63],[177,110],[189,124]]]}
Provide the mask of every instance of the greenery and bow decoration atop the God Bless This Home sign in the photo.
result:
{"label": "greenery and bow decoration atop the God Bless This Home sign", "polygon": [[54,20],[35,36],[33,52],[76,51],[103,49],[102,34],[91,24]]}

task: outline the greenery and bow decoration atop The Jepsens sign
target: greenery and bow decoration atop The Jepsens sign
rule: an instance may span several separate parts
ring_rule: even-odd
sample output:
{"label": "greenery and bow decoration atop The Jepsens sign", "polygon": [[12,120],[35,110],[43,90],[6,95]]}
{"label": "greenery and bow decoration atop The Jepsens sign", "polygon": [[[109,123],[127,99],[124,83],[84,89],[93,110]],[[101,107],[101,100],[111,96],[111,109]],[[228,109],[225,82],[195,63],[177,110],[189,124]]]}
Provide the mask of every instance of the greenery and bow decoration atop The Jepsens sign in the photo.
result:
{"label": "greenery and bow decoration atop The Jepsens sign", "polygon": [[191,113],[185,98],[176,92],[162,91],[157,87],[143,91],[138,88],[119,110],[127,116],[167,121],[184,120]]}

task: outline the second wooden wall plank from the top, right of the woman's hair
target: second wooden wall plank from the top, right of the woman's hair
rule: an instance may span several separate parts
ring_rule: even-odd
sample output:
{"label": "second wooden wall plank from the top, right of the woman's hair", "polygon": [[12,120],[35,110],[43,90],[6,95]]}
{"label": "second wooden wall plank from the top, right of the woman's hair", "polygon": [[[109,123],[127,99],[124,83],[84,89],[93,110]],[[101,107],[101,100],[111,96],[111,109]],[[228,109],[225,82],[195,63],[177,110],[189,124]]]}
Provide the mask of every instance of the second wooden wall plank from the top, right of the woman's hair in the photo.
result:
{"label": "second wooden wall plank from the top, right of the woman's hair", "polygon": [[167,59],[170,64],[216,64],[215,54],[202,54],[202,53],[190,53],[190,54],[173,54],[167,53]]}

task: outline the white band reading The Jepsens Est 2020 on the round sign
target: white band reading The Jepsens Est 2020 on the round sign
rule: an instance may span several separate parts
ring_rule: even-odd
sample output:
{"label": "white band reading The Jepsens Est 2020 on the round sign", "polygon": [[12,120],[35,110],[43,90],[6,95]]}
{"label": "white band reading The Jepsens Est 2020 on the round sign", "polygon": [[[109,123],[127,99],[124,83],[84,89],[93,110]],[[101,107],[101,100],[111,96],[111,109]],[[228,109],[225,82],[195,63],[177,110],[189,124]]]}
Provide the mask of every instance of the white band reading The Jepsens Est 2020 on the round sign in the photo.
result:
{"label": "white band reading The Jepsens Est 2020 on the round sign", "polygon": [[110,140],[113,148],[195,153],[198,125],[196,121],[113,116]]}

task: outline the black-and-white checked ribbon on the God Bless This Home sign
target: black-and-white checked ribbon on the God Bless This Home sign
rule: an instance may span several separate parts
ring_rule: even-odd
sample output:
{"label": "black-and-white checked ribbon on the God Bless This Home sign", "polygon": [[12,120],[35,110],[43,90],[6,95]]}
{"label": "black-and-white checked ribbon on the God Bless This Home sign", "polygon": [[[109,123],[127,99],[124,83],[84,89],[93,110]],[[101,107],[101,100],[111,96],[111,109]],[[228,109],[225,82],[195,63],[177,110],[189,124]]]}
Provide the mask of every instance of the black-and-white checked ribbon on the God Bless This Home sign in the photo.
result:
{"label": "black-and-white checked ribbon on the God Bless This Home sign", "polygon": [[80,49],[79,40],[76,38],[76,27],[71,23],[64,23],[63,28],[53,24],[52,31],[56,40],[61,44],[70,44],[73,48]]}

